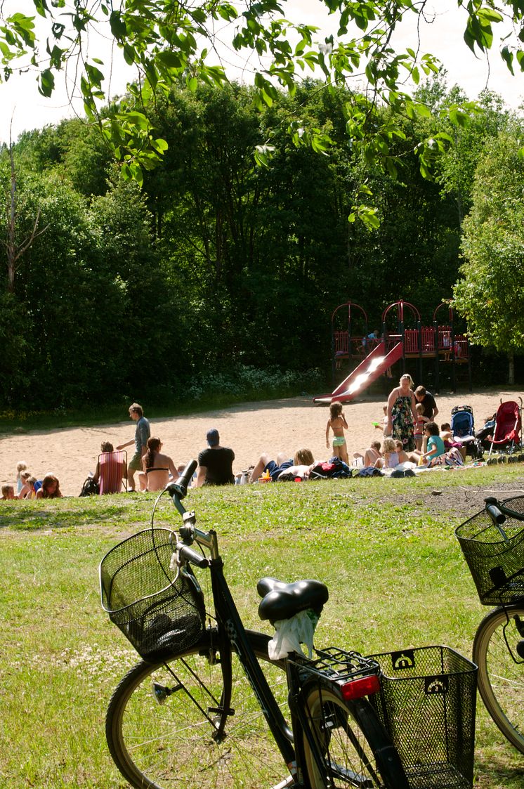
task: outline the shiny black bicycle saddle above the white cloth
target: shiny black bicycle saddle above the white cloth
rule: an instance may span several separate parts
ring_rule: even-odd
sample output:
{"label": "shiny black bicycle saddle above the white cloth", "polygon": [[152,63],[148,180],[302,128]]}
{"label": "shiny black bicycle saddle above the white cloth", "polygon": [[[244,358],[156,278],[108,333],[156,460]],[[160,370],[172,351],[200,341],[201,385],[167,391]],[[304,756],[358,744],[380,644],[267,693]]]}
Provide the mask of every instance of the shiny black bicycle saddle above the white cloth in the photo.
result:
{"label": "shiny black bicycle saddle above the white cloth", "polygon": [[262,597],[258,615],[260,619],[269,619],[271,624],[279,619],[290,619],[306,608],[313,608],[320,616],[329,597],[328,587],[320,581],[294,581],[286,584],[276,578],[260,578],[256,591]]}

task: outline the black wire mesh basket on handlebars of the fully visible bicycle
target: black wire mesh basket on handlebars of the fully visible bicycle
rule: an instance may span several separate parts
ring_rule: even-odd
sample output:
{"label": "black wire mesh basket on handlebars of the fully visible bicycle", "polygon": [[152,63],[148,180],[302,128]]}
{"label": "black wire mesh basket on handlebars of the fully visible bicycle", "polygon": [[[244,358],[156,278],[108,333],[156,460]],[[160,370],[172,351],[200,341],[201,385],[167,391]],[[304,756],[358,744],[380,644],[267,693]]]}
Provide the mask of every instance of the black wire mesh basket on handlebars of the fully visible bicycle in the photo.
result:
{"label": "black wire mesh basket on handlebars of the fully visible bicycle", "polygon": [[164,660],[197,643],[204,597],[193,574],[170,570],[170,529],[144,529],[100,563],[102,606],[144,660]]}

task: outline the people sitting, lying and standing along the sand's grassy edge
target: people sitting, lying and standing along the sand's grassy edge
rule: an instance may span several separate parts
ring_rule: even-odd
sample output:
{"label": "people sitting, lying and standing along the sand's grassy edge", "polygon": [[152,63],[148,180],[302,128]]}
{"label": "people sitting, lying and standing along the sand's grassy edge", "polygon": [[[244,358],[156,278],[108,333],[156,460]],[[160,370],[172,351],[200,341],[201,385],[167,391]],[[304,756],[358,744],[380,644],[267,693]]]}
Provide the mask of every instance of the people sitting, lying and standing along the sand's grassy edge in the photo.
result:
{"label": "people sitting, lying and standing along the sand's grassy edge", "polygon": [[[451,435],[450,424],[436,424],[439,413],[435,398],[425,387],[414,388],[411,376],[400,376],[384,405],[384,417],[375,422],[384,434],[383,442],[373,440],[361,452],[354,452],[351,465],[375,469],[395,469],[403,464],[411,467],[431,467],[440,464],[462,465],[466,450]],[[177,479],[183,466],[177,465],[163,451],[163,442],[151,435],[151,426],[144,417],[139,403],[129,406],[129,417],[136,423],[133,439],[114,447],[103,441],[95,472],[90,474],[95,490],[100,494],[135,491],[160,491],[169,481]],[[331,402],[326,425],[326,447],[331,446],[333,458],[350,465],[346,445],[348,424],[341,402]],[[208,446],[198,454],[198,469],[193,477],[193,487],[202,485],[234,484],[234,482],[264,482],[285,479],[307,479],[316,465],[313,453],[307,448],[298,449],[293,457],[286,453],[273,459],[268,453],[261,454],[254,466],[235,477],[233,472],[234,451],[220,443],[219,431],[208,430]],[[330,444],[331,439],[331,444]],[[134,445],[134,452],[126,462],[126,447]],[[135,481],[137,474],[138,483]],[[16,491],[13,485],[2,486],[1,500],[7,499],[52,499],[62,496],[57,477],[47,473],[42,480],[36,479],[27,470],[27,464],[17,465]]]}

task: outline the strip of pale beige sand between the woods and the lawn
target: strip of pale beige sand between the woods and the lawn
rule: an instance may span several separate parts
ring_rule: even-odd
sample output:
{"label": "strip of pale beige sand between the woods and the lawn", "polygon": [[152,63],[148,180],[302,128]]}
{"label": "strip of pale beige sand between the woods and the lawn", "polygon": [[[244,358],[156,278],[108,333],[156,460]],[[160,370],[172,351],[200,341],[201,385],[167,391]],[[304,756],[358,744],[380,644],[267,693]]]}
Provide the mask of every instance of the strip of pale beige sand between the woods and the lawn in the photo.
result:
{"label": "strip of pale beige sand between the woods and the lawn", "polygon": [[[518,394],[498,390],[473,394],[443,392],[436,396],[439,408],[436,421],[450,421],[453,406],[468,405],[473,408],[475,425],[479,428],[485,417],[496,411],[500,398],[518,401]],[[147,417],[147,404],[143,405]],[[372,439],[381,438],[381,430],[372,423],[382,420],[383,405],[384,398],[369,396],[344,406],[350,456],[354,451],[364,451]],[[197,458],[206,446],[206,432],[217,428],[221,443],[234,450],[234,472],[238,473],[256,463],[262,452],[275,457],[279,451],[285,451],[291,456],[299,447],[309,447],[316,460],[325,460],[331,454],[325,442],[327,421],[326,406],[316,406],[310,398],[289,398],[241,403],[193,417],[152,419],[151,429],[152,436],[162,439],[163,451],[178,465]],[[14,483],[17,462],[24,460],[37,479],[54,473],[64,495],[78,495],[88,473],[95,470],[100,443],[110,441],[114,446],[125,443],[133,439],[134,428],[134,422],[122,419],[96,427],[6,434],[0,439],[1,483]],[[133,447],[128,451],[132,453]]]}

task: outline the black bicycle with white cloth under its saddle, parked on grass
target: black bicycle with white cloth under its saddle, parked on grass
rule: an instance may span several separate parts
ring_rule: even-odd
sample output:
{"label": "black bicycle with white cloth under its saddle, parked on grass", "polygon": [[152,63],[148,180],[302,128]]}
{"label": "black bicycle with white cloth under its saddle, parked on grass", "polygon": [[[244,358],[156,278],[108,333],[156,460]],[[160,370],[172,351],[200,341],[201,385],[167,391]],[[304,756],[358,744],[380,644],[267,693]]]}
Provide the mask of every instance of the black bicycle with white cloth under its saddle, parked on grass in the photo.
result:
{"label": "black bicycle with white cloth under its saddle, parked on grass", "polygon": [[[165,491],[178,533],[155,528],[153,513],[151,529],[100,564],[103,608],[143,658],[107,710],[118,769],[137,789],[407,789],[368,698],[380,690],[375,660],[337,648],[271,660],[270,637],[245,630],[215,531],[182,505],[195,466]],[[209,573],[211,610],[193,567]],[[328,600],[319,581],[263,578],[257,589],[262,619],[294,617],[311,633]]]}

